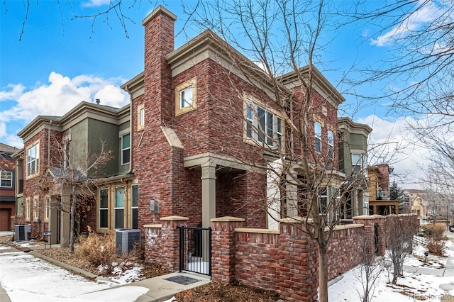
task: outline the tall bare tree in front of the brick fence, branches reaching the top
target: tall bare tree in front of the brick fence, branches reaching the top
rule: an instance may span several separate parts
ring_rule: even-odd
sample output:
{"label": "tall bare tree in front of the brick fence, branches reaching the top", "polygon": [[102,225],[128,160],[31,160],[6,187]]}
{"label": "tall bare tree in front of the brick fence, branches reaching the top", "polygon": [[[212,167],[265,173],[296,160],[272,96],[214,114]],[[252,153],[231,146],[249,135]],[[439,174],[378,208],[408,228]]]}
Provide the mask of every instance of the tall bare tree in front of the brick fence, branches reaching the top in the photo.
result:
{"label": "tall bare tree in front of the brick fence, branches reaching the top", "polygon": [[[267,169],[269,184],[275,189],[269,189],[268,203],[260,206],[258,201],[257,208],[265,206],[271,219],[294,218],[299,221],[299,228],[316,241],[320,301],[328,301],[328,245],[333,229],[343,217],[349,194],[365,181],[362,170],[346,177],[338,171],[337,147],[334,149],[337,135],[333,135],[332,145],[326,144],[332,147],[323,147],[328,149],[325,152],[314,148],[317,142],[313,116],[337,113],[338,104],[330,102],[343,100],[334,87],[328,88],[326,96],[319,95],[316,86],[323,81],[323,75],[314,67],[320,63],[321,50],[327,43],[321,38],[322,33],[328,26],[336,27],[336,21],[328,14],[329,7],[324,1],[219,0],[199,1],[197,5],[199,9],[192,21],[202,29],[216,31],[221,36],[216,43],[218,51],[233,62],[227,70],[213,71],[222,74],[231,85],[222,102],[210,106],[219,106],[220,112],[237,112],[238,121],[246,125],[239,132],[238,128],[232,127],[231,132],[223,128],[238,143],[223,145],[222,150],[216,145],[210,147],[249,166]],[[238,101],[250,90],[249,86],[238,86],[238,71],[246,82],[258,87],[255,98],[263,108],[255,106],[252,100],[246,100],[243,108],[243,101]],[[211,96],[219,98],[216,94]],[[333,106],[335,109],[331,109]],[[323,113],[323,108],[329,112]],[[267,128],[271,122],[265,119],[276,118],[273,110],[279,112],[275,127],[284,127],[285,135],[282,130]],[[184,129],[179,131],[181,135],[190,135]],[[243,146],[244,137],[256,142],[255,150]],[[192,138],[192,142],[196,140]],[[239,156],[238,148],[248,158]]]}

